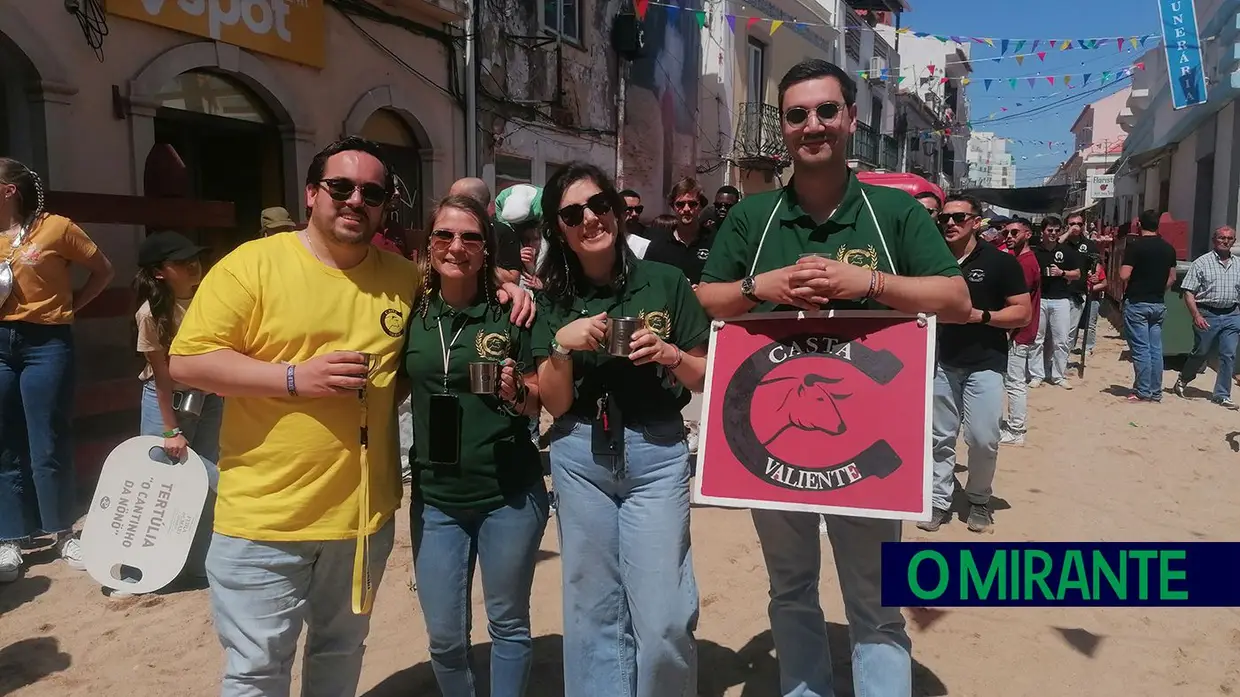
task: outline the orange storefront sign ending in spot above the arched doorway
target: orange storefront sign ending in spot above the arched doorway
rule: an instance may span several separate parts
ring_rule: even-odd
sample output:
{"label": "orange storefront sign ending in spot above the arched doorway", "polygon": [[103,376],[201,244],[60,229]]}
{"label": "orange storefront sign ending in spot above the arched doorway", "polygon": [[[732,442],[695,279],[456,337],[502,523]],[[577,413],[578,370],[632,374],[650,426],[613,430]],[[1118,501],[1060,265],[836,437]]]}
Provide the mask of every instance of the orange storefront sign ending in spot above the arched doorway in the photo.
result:
{"label": "orange storefront sign ending in spot above the arched doorway", "polygon": [[322,0],[107,0],[108,12],[324,67]]}

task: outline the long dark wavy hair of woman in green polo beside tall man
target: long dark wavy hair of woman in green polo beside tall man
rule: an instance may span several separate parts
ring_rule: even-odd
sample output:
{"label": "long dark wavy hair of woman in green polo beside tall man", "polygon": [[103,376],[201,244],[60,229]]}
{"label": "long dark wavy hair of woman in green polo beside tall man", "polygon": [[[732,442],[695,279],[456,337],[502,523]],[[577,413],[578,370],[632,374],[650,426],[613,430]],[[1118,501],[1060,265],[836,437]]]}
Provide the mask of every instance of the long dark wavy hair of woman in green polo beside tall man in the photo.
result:
{"label": "long dark wavy hair of woman in green polo beside tall man", "polygon": [[616,191],[616,185],[611,181],[611,177],[589,162],[578,161],[564,165],[551,176],[543,187],[542,224],[543,237],[547,239],[547,255],[543,258],[542,265],[538,267],[538,278],[543,282],[543,294],[553,303],[560,305],[572,304],[572,299],[580,293],[580,289],[589,285],[589,280],[587,280],[585,273],[582,270],[582,262],[568,246],[559,222],[559,210],[562,207],[560,202],[564,200],[564,191],[582,180],[593,181],[608,197],[608,201],[611,202],[611,215],[616,220],[614,242],[616,255],[613,265],[613,285],[616,288],[624,285],[629,267],[634,260],[629,252],[629,244],[625,241],[624,226],[620,224],[620,221],[624,220],[624,198]]}

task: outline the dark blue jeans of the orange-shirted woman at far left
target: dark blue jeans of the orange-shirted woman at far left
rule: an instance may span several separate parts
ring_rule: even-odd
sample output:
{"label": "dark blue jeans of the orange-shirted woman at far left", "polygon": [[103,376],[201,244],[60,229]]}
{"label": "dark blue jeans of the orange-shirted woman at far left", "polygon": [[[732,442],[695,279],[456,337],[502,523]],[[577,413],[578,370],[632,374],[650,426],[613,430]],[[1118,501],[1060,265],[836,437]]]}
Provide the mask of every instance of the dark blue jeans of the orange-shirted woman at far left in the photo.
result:
{"label": "dark blue jeans of the orange-shirted woman at far left", "polygon": [[0,322],[0,542],[73,528],[73,329]]}

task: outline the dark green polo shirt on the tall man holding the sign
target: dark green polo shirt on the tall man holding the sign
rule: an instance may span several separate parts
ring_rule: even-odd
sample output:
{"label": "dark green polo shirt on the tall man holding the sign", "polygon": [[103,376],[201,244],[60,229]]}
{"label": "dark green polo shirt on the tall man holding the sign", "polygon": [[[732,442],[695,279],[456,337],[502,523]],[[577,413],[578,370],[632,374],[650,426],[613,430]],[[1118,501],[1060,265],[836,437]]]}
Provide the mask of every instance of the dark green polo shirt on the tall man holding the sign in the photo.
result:
{"label": "dark green polo shirt on the tall man holding the sign", "polygon": [[[784,189],[746,196],[724,218],[702,272],[702,283],[732,283],[748,277],[755,255],[758,264],[751,273],[758,275],[795,264],[806,252],[897,275],[960,275],[960,265],[942,233],[916,198],[899,189],[862,184],[849,172],[839,207],[821,223],[801,207],[791,181]],[[879,303],[857,300],[832,301],[828,306],[884,309]],[[763,303],[753,311],[789,309],[792,308]]]}

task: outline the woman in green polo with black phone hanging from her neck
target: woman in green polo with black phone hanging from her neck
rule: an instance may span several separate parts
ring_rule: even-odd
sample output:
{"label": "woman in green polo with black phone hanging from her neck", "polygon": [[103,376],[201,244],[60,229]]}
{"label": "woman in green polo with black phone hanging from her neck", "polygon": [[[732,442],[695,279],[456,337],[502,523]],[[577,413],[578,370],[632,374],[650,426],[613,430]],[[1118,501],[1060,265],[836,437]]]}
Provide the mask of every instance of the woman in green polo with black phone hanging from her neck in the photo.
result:
{"label": "woman in green polo with black phone hanging from her neck", "polygon": [[[517,697],[529,676],[529,590],[548,502],[529,440],[539,413],[529,330],[495,300],[495,232],[472,198],[430,217],[422,301],[407,324],[414,456],[410,506],[418,600],[444,697],[472,697],[470,588],[482,567],[491,695]],[[470,363],[501,363],[474,393]],[[485,389],[480,384],[477,388]]]}

